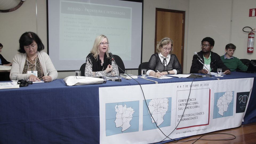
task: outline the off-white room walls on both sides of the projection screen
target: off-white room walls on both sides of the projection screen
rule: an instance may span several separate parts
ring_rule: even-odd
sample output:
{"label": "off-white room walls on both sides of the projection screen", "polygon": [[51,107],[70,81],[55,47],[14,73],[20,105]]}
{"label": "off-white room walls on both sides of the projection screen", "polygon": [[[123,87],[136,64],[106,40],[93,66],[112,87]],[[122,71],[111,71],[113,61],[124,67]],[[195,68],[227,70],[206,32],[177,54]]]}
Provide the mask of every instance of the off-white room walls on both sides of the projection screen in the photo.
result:
{"label": "off-white room walls on both sides of the projection screen", "polygon": [[[231,42],[237,46],[236,57],[256,59],[256,52],[247,54],[248,34],[242,31],[245,26],[256,28],[256,17],[248,17],[249,9],[256,7],[255,0],[144,0],[142,62],[149,61],[154,53],[156,7],[186,11],[183,73],[189,73],[193,53],[200,51],[201,40],[207,36],[215,40],[213,51],[220,55]],[[0,19],[0,43],[4,46],[1,54],[7,61],[11,62],[17,53],[19,37],[25,31],[37,33],[47,52],[46,0],[26,0],[18,10],[0,13]],[[138,70],[126,71],[138,74]],[[69,75],[74,72],[59,72],[58,78]]]}

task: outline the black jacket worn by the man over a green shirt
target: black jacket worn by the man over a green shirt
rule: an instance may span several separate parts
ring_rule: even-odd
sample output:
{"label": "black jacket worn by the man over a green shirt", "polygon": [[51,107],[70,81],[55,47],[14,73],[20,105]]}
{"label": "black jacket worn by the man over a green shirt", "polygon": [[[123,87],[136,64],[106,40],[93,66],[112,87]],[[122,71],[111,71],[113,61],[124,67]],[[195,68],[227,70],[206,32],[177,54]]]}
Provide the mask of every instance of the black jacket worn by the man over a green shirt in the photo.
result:
{"label": "black jacket worn by the man over a green shirt", "polygon": [[[203,51],[200,51],[197,53],[202,59],[203,59]],[[203,59],[204,61],[204,59]],[[210,62],[211,72],[217,72],[217,69],[222,69],[222,71],[230,70],[229,68],[224,65],[224,63],[221,60],[221,57],[217,54],[211,51],[211,62]],[[190,73],[198,73],[199,70],[203,69],[203,64],[200,63],[197,59],[197,56],[193,56],[192,65],[190,68]]]}

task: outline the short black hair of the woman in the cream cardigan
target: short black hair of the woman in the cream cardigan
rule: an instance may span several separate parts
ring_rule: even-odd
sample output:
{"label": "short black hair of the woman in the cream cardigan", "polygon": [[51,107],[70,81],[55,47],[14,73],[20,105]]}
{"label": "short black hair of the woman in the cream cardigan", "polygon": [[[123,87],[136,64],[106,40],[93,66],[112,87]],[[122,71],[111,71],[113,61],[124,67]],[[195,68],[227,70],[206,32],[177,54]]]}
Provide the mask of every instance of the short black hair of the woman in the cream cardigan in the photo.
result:
{"label": "short black hair of the woman in the cream cardigan", "polygon": [[41,51],[45,49],[45,46],[43,45],[41,39],[38,37],[36,33],[33,33],[31,31],[28,31],[21,35],[19,38],[19,49],[18,52],[20,53],[26,53],[24,50],[24,46],[31,45],[35,41],[37,43],[37,51]]}

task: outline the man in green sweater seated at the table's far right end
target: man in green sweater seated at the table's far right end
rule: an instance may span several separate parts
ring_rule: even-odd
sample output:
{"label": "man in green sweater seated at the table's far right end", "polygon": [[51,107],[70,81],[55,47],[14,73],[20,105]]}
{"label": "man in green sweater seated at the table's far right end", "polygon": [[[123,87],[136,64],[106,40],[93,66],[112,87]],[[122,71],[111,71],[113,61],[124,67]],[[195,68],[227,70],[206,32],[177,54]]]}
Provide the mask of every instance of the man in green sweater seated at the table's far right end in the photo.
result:
{"label": "man in green sweater seated at the table's far right end", "polygon": [[233,57],[236,46],[229,43],[225,47],[225,54],[221,56],[222,62],[230,69],[230,71],[236,71],[237,69],[246,71],[248,67],[244,65],[240,59]]}

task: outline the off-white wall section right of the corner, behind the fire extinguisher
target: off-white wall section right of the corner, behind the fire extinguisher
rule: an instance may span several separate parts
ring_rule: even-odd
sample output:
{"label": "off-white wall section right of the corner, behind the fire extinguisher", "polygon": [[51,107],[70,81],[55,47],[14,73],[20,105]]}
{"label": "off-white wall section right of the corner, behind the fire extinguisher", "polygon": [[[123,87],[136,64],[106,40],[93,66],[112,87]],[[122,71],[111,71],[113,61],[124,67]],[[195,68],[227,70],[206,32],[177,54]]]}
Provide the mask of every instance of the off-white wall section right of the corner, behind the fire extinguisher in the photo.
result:
{"label": "off-white wall section right of the corner, behind the fire extinguisher", "polygon": [[189,1],[187,73],[191,67],[193,54],[195,51],[201,51],[200,44],[205,37],[214,39],[212,51],[219,55],[225,53],[225,46],[228,43],[233,43],[237,46],[235,57],[256,59],[256,52],[247,53],[248,33],[242,31],[245,26],[256,28],[256,17],[249,17],[249,9],[253,8],[256,8],[255,0]]}

